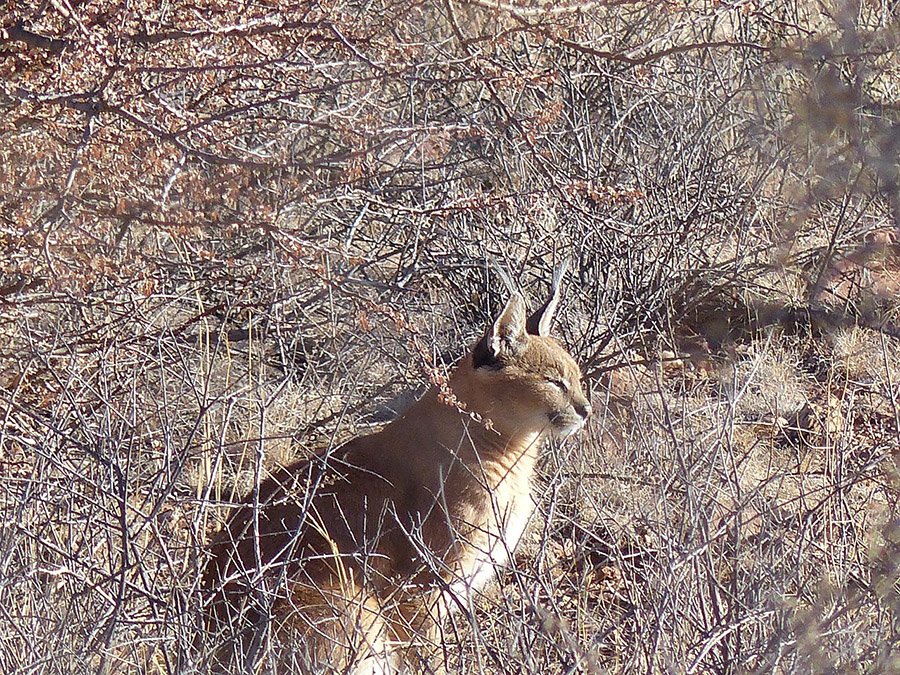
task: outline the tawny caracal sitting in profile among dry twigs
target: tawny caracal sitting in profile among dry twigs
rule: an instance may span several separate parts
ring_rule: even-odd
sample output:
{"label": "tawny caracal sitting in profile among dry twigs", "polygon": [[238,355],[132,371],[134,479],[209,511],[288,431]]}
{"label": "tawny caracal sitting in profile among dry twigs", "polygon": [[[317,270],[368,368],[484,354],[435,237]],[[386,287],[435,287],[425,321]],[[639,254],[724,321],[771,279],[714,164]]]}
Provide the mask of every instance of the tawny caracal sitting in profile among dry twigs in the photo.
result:
{"label": "tawny caracal sitting in profile among dry twigs", "polygon": [[204,577],[228,668],[268,651],[299,672],[425,671],[419,647],[518,544],[543,441],[590,412],[572,357],[525,326],[514,295],[450,377],[489,426],[432,390],[377,433],[279,471],[236,510]]}

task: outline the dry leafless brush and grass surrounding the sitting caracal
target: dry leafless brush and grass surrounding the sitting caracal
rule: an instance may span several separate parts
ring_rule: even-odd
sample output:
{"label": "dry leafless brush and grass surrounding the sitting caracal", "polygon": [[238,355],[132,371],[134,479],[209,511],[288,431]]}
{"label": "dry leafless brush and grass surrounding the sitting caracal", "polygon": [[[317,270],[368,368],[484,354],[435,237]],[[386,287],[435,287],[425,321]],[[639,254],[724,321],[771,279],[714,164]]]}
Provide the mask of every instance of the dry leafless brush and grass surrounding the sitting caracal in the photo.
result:
{"label": "dry leafless brush and grass surrounding the sitting caracal", "polygon": [[0,16],[0,671],[199,668],[229,504],[566,255],[448,670],[900,671],[896,1],[290,5]]}

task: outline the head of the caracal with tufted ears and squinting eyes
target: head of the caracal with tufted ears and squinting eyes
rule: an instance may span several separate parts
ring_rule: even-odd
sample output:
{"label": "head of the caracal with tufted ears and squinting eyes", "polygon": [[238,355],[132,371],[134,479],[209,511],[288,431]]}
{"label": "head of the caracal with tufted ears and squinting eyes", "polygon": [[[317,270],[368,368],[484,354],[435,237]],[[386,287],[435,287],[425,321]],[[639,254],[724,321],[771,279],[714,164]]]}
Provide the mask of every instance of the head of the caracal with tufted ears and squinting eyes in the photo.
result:
{"label": "head of the caracal with tufted ears and squinting eyes", "polygon": [[513,293],[463,365],[477,383],[474,407],[502,433],[564,438],[591,414],[581,369],[549,335],[558,299],[557,278],[550,300],[529,317]]}

